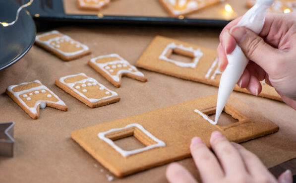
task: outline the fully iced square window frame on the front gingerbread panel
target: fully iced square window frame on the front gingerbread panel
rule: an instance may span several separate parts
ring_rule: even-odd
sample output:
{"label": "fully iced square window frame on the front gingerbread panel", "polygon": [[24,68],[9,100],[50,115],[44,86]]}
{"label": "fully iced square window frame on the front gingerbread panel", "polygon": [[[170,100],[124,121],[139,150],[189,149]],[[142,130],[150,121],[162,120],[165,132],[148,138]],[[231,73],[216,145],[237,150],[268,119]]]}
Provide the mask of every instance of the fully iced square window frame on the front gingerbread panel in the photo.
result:
{"label": "fully iced square window frame on the front gingerbread panel", "polygon": [[[127,150],[123,150],[117,144],[114,143],[115,140],[125,138],[128,136],[134,136],[146,147],[127,151]],[[147,131],[142,125],[137,123],[128,124],[122,128],[114,128],[114,129],[110,129],[109,131],[100,132],[98,133],[98,137],[104,140],[109,145],[111,145],[123,157],[144,152],[149,149],[166,146],[166,144],[163,141],[156,138],[149,131]]]}

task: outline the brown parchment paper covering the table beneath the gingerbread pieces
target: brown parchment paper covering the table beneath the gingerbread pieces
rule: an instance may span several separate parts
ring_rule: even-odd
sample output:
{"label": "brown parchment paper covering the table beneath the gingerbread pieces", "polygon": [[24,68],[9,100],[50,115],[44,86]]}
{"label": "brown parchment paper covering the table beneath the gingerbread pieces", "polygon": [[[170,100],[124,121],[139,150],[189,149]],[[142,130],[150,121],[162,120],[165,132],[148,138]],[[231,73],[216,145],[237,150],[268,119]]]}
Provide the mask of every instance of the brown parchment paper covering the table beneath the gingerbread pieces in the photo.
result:
{"label": "brown parchment paper covering the table beneath the gingerbread pieces", "polygon": [[[213,86],[142,69],[148,82],[123,78],[121,87],[115,88],[87,65],[87,61],[99,55],[117,53],[135,64],[156,35],[215,49],[220,29],[101,25],[58,30],[88,45],[92,54],[64,62],[33,46],[24,58],[0,71],[0,122],[15,122],[14,157],[0,157],[0,183],[108,183],[107,174],[112,174],[74,142],[70,132],[218,92]],[[120,102],[91,109],[54,85],[55,79],[80,72],[118,92]],[[48,107],[41,110],[38,120],[32,120],[4,93],[11,84],[35,79],[56,93],[67,104],[68,111]],[[242,145],[258,155],[267,167],[295,158],[296,112],[281,102],[236,92],[234,95],[280,126],[277,133]],[[191,158],[179,162],[197,175]],[[115,177],[113,182],[165,183],[166,168],[164,165],[122,179]]]}

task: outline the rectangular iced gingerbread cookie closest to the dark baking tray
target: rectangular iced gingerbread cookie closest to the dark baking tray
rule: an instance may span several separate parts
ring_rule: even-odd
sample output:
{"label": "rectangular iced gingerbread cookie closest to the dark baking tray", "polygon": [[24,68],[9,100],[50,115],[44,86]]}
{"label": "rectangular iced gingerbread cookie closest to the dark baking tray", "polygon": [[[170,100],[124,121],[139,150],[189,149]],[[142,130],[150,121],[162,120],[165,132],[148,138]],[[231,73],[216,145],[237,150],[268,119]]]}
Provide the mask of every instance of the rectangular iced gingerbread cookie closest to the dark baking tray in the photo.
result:
{"label": "rectangular iced gingerbread cookie closest to the dark baking tray", "polygon": [[[50,37],[50,35],[55,35],[52,38]],[[48,37],[48,39],[42,39],[44,37]],[[81,48],[78,51],[75,52],[64,52],[62,50],[60,50],[58,47],[59,45],[55,44],[53,45],[53,43],[51,44],[51,42],[55,42],[55,43],[59,43],[59,39],[63,39],[66,42],[70,42],[70,45],[72,46],[79,46],[79,48]],[[63,41],[64,42],[64,41]],[[45,50],[53,53],[54,55],[56,55],[57,57],[59,57],[60,59],[62,59],[63,61],[71,61],[74,59],[77,59],[79,57],[88,55],[91,53],[90,49],[88,46],[75,41],[74,39],[70,38],[69,36],[60,33],[57,30],[53,30],[50,32],[45,32],[43,34],[39,34],[36,36],[35,38],[35,43],[36,45],[44,48]]]}

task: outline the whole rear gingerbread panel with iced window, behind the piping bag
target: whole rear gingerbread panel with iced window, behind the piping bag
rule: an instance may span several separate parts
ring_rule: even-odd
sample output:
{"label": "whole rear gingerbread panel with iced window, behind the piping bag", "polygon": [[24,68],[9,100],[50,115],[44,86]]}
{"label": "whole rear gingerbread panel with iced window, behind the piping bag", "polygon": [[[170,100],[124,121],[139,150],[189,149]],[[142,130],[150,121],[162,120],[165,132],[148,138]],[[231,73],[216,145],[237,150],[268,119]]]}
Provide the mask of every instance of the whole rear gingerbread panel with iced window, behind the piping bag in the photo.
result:
{"label": "whole rear gingerbread panel with iced window, behind the piping bag", "polygon": [[[191,62],[171,59],[172,53],[191,58]],[[221,73],[216,50],[178,40],[156,36],[136,62],[137,67],[219,87]],[[236,91],[250,94],[246,89]],[[262,84],[259,96],[282,101],[275,89]]]}

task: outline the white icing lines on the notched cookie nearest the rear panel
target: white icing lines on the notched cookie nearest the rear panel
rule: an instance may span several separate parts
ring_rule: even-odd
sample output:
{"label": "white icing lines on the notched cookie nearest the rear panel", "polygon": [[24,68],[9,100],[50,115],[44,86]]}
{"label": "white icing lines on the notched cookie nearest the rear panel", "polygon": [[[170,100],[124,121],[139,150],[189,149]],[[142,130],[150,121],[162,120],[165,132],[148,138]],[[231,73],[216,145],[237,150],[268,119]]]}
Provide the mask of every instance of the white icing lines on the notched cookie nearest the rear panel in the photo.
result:
{"label": "white icing lines on the notched cookie nearest the rear panel", "polygon": [[[103,59],[103,58],[108,58],[108,57],[117,57],[119,60],[118,61],[109,61],[106,63],[97,63],[96,60],[98,59]],[[115,80],[116,82],[120,81],[120,74],[123,73],[131,73],[140,77],[144,77],[144,74],[140,71],[138,71],[138,69],[131,65],[128,61],[124,60],[123,58],[121,58],[118,54],[110,54],[110,55],[106,55],[106,56],[99,56],[96,58],[93,58],[90,60],[92,63],[94,63],[96,66],[98,66],[101,70],[103,70],[105,73],[107,73],[113,80]],[[136,72],[131,72],[130,70],[126,70],[126,69],[120,69],[118,70],[118,72],[116,73],[116,75],[111,75],[110,72],[108,70],[105,69],[105,66],[108,64],[126,64],[128,66],[130,66],[132,68],[132,70],[136,71]]]}

